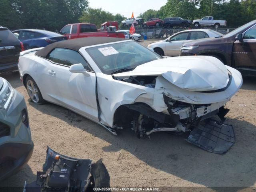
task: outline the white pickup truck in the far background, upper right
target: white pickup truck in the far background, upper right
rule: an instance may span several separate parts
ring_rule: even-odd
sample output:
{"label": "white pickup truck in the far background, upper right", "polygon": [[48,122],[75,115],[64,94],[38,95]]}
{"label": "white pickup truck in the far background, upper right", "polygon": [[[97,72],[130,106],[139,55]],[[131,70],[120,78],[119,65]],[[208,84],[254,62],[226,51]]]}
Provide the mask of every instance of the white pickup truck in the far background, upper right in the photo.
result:
{"label": "white pickup truck in the far background, upper right", "polygon": [[199,26],[214,26],[214,28],[219,28],[220,26],[226,26],[227,21],[225,20],[214,20],[212,16],[207,16],[202,19],[193,20],[192,24],[195,27]]}

